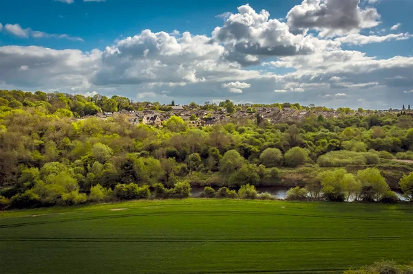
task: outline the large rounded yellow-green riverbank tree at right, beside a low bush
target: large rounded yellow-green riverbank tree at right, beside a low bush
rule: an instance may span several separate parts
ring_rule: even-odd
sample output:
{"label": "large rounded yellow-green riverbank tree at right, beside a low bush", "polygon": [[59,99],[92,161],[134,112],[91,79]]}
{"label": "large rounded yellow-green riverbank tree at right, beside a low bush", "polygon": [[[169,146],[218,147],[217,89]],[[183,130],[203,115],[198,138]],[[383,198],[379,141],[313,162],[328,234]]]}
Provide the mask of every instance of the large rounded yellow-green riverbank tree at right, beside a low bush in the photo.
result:
{"label": "large rounded yellow-green riverbank tree at right, beside a low bush", "polygon": [[390,190],[383,176],[377,168],[367,168],[357,172],[357,179],[363,188],[363,200],[379,201],[380,198]]}

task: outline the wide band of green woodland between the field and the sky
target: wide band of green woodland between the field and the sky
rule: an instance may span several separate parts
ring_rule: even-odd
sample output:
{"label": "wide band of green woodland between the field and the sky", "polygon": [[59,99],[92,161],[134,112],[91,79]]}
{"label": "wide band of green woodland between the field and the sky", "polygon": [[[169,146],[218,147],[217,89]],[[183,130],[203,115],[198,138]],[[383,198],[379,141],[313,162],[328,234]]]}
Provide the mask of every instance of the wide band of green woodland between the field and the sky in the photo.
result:
{"label": "wide band of green woodland between the field and the sky", "polygon": [[228,117],[196,127],[173,115],[160,126],[94,116],[148,106],[167,112],[173,104],[0,91],[0,209],[186,198],[193,186],[205,187],[204,198],[271,199],[255,187],[286,185],[290,200],[396,203],[391,190],[400,189],[413,201],[410,107],[271,123],[231,117],[264,105],[191,103],[192,111],[224,109]]}

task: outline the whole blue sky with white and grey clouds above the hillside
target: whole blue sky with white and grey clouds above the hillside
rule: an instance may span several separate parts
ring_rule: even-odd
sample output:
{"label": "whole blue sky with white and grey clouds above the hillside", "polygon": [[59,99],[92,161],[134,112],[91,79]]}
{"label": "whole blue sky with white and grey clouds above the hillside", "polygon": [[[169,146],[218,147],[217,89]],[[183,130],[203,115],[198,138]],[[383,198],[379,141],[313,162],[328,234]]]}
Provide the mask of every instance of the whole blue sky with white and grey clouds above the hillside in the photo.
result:
{"label": "whole blue sky with white and grey clouds above the hillside", "polygon": [[1,0],[0,89],[413,104],[413,0]]}

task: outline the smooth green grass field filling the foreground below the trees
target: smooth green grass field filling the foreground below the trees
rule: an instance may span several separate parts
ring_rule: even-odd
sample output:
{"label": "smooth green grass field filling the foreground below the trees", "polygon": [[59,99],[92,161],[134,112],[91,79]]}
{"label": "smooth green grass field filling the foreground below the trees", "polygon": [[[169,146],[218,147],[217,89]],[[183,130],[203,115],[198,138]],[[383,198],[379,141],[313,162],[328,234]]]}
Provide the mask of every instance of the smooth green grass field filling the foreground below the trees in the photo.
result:
{"label": "smooth green grass field filling the foreground below the trees", "polygon": [[187,199],[0,212],[0,273],[342,273],[413,260],[413,206]]}

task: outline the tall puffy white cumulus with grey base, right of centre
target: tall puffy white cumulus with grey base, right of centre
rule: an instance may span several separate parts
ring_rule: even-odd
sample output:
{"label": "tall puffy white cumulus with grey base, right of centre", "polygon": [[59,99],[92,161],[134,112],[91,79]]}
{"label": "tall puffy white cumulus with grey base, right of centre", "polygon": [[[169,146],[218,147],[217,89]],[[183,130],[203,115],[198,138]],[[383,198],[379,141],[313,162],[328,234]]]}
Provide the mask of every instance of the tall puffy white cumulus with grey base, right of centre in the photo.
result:
{"label": "tall puffy white cumulus with grey base, right of centre", "polygon": [[[332,46],[312,36],[293,34],[286,23],[269,19],[269,12],[255,12],[248,4],[238,7],[222,27],[213,30],[213,41],[224,43],[226,60],[253,65],[260,56],[294,56],[310,54],[317,47]],[[255,56],[251,58],[251,56]]]}

